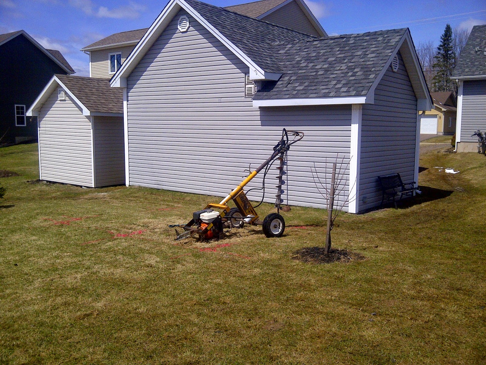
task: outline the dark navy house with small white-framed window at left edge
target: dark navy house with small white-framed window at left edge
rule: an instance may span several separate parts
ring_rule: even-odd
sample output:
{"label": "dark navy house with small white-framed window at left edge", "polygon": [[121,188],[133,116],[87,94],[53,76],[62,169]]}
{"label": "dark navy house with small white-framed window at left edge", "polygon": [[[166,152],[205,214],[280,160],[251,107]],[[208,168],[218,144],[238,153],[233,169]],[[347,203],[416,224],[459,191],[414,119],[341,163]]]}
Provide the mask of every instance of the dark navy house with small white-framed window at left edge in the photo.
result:
{"label": "dark navy house with small white-framed window at left edge", "polygon": [[59,51],[47,50],[23,30],[0,35],[0,146],[37,139],[37,119],[26,110],[54,73],[74,70]]}

